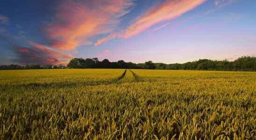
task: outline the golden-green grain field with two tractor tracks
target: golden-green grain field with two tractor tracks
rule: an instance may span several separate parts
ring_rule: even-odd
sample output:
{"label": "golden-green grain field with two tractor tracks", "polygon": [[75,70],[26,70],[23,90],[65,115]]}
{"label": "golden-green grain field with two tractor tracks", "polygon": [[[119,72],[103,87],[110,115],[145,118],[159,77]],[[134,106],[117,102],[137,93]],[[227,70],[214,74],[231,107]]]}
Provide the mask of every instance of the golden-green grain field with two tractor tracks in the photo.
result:
{"label": "golden-green grain field with two tractor tracks", "polygon": [[256,139],[256,72],[1,70],[0,139]]}

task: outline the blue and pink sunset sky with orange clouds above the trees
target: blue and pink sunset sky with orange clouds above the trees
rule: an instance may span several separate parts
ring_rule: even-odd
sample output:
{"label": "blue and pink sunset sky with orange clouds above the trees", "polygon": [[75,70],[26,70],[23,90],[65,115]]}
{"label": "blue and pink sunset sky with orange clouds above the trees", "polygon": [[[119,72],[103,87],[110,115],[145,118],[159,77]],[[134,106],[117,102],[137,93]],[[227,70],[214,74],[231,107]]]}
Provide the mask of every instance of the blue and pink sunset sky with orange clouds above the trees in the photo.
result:
{"label": "blue and pink sunset sky with orange clouds above the trees", "polygon": [[1,0],[0,64],[256,56],[256,0]]}

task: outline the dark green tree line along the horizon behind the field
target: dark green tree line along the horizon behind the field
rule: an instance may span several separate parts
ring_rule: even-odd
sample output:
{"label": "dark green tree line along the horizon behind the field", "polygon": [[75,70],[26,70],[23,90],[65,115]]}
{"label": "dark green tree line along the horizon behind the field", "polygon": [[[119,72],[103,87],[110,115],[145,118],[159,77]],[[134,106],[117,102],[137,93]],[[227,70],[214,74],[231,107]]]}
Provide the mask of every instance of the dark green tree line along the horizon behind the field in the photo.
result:
{"label": "dark green tree line along the horizon behind the field", "polygon": [[110,62],[107,59],[99,61],[98,58],[73,58],[67,64],[53,65],[53,64],[27,64],[21,65],[1,65],[2,70],[13,69],[63,69],[63,68],[76,68],[76,69],[150,69],[150,70],[225,70],[225,71],[256,71],[256,57],[255,56],[242,56],[235,61],[217,61],[209,59],[199,59],[187,63],[153,63],[148,61],[145,63],[132,63],[119,60],[117,62]]}

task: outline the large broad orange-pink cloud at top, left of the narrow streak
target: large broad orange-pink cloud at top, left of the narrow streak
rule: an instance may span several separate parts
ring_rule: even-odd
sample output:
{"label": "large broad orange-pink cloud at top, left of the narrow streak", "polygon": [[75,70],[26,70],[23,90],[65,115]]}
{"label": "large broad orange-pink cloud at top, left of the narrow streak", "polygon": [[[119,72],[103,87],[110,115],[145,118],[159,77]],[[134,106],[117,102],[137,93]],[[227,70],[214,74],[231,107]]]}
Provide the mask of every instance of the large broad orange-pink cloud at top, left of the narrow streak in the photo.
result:
{"label": "large broad orange-pink cloud at top, left of the narrow streak", "polygon": [[130,6],[130,0],[65,0],[46,27],[50,46],[71,50],[92,44],[88,38],[110,33]]}

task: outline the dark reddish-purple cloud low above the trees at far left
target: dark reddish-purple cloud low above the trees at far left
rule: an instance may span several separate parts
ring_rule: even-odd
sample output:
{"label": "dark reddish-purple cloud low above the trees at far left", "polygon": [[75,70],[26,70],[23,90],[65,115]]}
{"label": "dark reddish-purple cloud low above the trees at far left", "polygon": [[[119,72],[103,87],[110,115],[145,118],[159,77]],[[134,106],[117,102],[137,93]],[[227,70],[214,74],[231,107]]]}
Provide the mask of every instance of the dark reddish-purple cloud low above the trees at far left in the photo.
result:
{"label": "dark reddish-purple cloud low above the trees at far left", "polygon": [[15,62],[21,64],[28,63],[51,63],[66,65],[72,56],[63,54],[61,52],[49,49],[48,47],[38,44],[36,42],[29,42],[31,48],[15,46],[14,52],[16,54]]}

